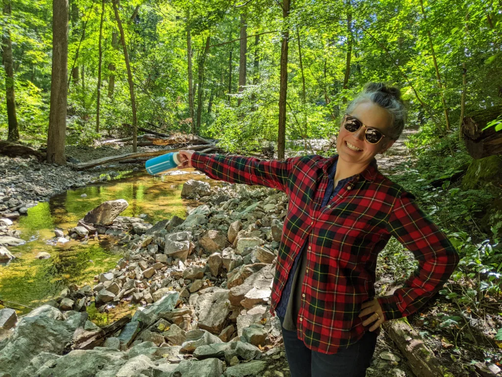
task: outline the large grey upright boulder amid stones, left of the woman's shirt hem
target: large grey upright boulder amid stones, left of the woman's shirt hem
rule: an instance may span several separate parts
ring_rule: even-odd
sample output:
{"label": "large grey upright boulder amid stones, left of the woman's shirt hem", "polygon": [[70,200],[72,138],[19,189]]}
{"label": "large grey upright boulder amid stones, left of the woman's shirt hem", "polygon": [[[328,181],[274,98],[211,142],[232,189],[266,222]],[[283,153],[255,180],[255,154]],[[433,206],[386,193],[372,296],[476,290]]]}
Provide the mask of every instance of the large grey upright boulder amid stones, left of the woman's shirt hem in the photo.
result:
{"label": "large grey upright boulder amid stones, left of the woman's shirt hem", "polygon": [[[212,291],[212,292],[211,292]],[[195,306],[195,314],[199,319],[199,327],[218,335],[230,314],[228,309],[228,290],[211,288],[207,293],[199,296]]]}

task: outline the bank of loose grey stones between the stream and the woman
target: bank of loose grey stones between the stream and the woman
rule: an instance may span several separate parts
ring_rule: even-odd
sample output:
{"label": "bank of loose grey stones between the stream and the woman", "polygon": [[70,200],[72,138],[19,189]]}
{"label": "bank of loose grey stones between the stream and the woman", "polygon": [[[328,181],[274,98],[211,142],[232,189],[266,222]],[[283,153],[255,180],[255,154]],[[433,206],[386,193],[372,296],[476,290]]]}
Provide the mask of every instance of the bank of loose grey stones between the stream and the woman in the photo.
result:
{"label": "bank of loose grey stones between the stream and the woman", "polygon": [[[14,329],[9,317],[0,375],[272,375],[270,361],[284,358],[280,323],[269,309],[286,196],[246,185],[211,190],[193,180],[183,194],[205,203],[184,220],[152,226],[118,216],[127,202],[114,201],[70,230],[66,237],[88,237],[86,226],[107,235],[114,229],[127,251],[114,269],[95,276],[94,286],[68,287]],[[105,331],[85,312],[93,302],[99,311],[119,303],[138,309],[99,338]],[[97,334],[92,346],[80,348],[82,332]]]}

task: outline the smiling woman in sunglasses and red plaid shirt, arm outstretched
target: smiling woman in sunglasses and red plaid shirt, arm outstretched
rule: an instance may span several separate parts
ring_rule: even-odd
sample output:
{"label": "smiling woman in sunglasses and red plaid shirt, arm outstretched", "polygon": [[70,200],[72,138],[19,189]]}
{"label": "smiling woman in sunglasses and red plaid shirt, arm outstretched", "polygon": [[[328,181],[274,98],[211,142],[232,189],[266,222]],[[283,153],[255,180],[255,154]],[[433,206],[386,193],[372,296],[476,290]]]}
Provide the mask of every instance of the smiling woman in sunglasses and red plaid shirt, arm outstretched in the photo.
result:
{"label": "smiling woman in sunglasses and red plaid shirt, arm outstretched", "polygon": [[[338,153],[329,158],[280,161],[180,152],[182,168],[287,194],[270,312],[281,321],[293,377],[364,377],[380,325],[415,312],[458,263],[455,248],[415,197],[376,166],[374,156],[403,131],[406,108],[400,96],[396,87],[366,85],[349,105]],[[375,297],[376,257],[391,236],[419,265],[394,294]]]}

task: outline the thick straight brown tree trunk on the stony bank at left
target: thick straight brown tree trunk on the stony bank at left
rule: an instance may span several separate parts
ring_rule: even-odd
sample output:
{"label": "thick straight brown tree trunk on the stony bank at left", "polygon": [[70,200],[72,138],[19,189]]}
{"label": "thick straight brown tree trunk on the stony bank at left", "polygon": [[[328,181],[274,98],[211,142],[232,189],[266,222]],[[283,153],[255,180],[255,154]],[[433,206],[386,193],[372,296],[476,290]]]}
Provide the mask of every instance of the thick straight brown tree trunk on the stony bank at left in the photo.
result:
{"label": "thick straight brown tree trunk on the stony bank at left", "polygon": [[47,162],[66,164],[68,0],[52,0],[52,76]]}

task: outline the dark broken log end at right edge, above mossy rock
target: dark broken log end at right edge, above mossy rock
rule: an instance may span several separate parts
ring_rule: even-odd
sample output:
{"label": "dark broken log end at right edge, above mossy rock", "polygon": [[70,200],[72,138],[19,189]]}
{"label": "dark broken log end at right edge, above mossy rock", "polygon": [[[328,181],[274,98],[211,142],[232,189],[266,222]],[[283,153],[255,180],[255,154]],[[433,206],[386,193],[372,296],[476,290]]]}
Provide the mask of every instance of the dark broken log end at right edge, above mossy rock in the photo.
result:
{"label": "dark broken log end at right edge, above mossy rock", "polygon": [[502,115],[502,105],[471,112],[462,120],[460,127],[467,153],[475,159],[502,153],[502,131],[489,127],[488,123]]}

